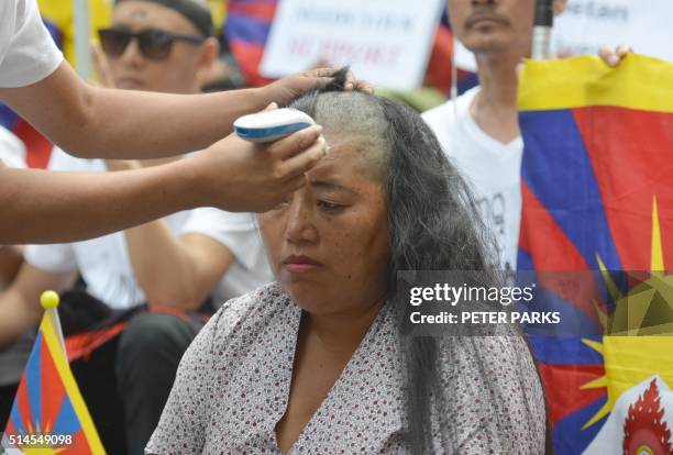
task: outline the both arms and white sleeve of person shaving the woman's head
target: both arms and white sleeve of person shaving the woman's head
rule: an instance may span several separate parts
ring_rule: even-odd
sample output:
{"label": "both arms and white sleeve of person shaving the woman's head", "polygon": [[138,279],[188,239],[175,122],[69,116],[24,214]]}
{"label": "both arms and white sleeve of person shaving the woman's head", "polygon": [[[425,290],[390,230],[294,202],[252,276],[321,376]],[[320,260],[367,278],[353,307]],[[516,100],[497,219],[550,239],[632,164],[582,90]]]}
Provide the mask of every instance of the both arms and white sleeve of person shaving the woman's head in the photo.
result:
{"label": "both arms and white sleeve of person shaving the woman's head", "polygon": [[[133,41],[143,42],[150,55],[165,47],[156,36]],[[169,47],[188,44],[179,36],[168,41]],[[194,159],[109,175],[19,170],[0,163],[0,243],[81,240],[199,206],[230,211],[275,206],[305,185],[305,171],[323,155],[320,127],[261,147],[228,136],[232,123],[327,84],[329,74],[192,96],[96,88],[63,60],[35,0],[0,1],[0,99],[57,145],[102,158],[156,158],[207,147]]]}

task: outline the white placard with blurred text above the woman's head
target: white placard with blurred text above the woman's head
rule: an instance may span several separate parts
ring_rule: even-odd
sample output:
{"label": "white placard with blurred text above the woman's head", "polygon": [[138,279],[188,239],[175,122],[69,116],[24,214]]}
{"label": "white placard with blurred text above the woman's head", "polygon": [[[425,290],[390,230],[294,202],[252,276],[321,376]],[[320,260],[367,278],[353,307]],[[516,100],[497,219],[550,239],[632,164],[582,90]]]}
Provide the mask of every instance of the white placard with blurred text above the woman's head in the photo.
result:
{"label": "white placard with blurred text above the woman's head", "polygon": [[261,73],[280,77],[350,65],[358,78],[398,90],[422,82],[444,0],[280,0]]}

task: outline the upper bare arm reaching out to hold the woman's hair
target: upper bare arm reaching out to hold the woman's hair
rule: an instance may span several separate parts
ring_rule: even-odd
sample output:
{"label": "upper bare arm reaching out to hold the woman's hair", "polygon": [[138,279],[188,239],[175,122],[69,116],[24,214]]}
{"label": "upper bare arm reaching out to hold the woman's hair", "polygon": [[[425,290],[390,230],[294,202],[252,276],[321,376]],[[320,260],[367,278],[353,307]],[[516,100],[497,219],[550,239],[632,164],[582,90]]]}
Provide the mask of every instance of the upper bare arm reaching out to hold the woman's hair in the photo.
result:
{"label": "upper bare arm reaching out to hold the woman's hair", "polygon": [[331,69],[289,76],[260,89],[169,95],[97,88],[67,63],[0,99],[68,153],[82,157],[153,158],[201,149],[224,137],[242,114],[286,103],[327,84]]}

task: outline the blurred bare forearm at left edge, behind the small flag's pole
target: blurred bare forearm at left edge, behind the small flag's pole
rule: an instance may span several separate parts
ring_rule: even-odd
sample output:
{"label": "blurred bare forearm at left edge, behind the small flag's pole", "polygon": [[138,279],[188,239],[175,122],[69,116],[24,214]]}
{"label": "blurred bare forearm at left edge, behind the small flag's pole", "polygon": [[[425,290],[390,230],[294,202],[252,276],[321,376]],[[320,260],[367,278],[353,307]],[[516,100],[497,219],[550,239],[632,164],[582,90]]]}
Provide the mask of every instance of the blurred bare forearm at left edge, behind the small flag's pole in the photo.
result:
{"label": "blurred bare forearm at left edge, behind the small flag's pole", "polygon": [[40,322],[40,295],[70,287],[77,271],[54,274],[24,263],[12,285],[0,293],[0,349],[14,343],[32,325]]}

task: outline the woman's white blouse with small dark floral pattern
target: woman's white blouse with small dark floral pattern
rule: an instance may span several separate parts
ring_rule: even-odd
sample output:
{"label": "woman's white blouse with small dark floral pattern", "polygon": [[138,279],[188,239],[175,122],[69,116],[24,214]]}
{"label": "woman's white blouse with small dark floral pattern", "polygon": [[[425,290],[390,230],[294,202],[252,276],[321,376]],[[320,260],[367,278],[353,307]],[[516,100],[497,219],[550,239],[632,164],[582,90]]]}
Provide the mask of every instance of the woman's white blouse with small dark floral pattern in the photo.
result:
{"label": "woman's white blouse with small dark floral pattern", "polygon": [[[279,454],[275,426],[287,407],[300,318],[278,284],[224,304],[183,357],[146,453]],[[384,307],[290,454],[407,453],[396,333]],[[431,412],[434,452],[543,453],[544,399],[530,356],[516,355],[528,349],[523,341],[465,337],[453,346],[441,377],[457,411]],[[453,425],[451,442],[445,425]]]}

